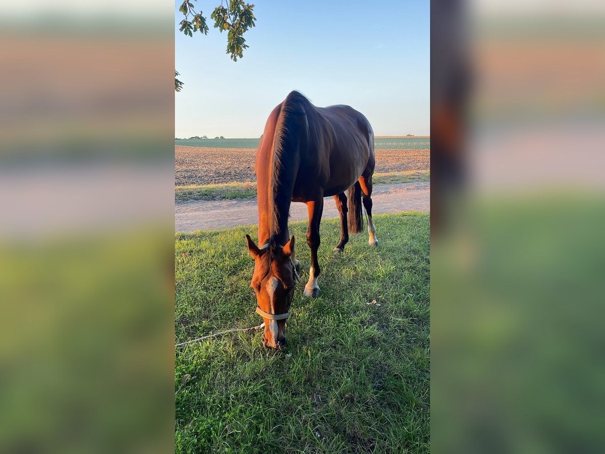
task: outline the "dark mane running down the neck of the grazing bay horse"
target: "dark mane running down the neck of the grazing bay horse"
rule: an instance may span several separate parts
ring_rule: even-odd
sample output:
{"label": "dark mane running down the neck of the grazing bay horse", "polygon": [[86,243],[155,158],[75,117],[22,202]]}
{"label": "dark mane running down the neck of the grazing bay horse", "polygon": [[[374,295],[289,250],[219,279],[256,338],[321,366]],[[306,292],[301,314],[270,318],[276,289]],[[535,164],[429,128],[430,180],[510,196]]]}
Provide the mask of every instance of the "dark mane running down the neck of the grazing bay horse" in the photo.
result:
{"label": "dark mane running down the neck of the grazing bay horse", "polygon": [[[276,244],[276,238],[287,228],[290,198],[296,176],[294,166],[301,139],[301,116],[310,106],[309,100],[298,91],[292,91],[281,104],[273,136],[272,172],[269,183],[270,222],[269,244]],[[273,248],[272,248],[273,249]]]}

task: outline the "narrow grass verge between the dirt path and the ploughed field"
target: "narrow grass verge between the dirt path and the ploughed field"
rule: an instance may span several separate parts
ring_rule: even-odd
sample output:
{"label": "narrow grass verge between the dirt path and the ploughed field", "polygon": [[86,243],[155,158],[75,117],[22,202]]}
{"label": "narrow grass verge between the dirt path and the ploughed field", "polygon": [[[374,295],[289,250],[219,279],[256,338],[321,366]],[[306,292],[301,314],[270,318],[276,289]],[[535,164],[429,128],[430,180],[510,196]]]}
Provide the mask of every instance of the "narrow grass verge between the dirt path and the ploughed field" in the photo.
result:
{"label": "narrow grass verge between the dirt path and the ploughed field", "polygon": [[[414,181],[428,181],[430,171],[410,170],[404,172],[376,173],[373,177],[374,185],[393,185],[395,183],[410,183]],[[186,185],[175,186],[175,202],[191,202],[193,200],[218,199],[244,199],[257,195],[257,183],[223,183],[215,185]]]}

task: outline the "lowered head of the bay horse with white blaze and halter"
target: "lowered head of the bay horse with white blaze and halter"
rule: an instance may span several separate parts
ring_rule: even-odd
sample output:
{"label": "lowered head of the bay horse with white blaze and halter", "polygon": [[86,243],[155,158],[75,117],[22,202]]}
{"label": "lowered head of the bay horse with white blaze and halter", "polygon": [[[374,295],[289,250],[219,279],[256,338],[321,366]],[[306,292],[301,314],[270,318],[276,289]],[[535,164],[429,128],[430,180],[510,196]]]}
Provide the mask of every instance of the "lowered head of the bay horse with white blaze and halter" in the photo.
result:
{"label": "lowered head of the bay horse with white blaze and halter", "polygon": [[285,246],[258,248],[249,235],[248,251],[254,258],[254,274],[250,287],[257,294],[257,312],[263,317],[263,345],[278,349],[286,343],[285,325],[294,296],[296,271],[290,257],[294,252],[294,237]]}

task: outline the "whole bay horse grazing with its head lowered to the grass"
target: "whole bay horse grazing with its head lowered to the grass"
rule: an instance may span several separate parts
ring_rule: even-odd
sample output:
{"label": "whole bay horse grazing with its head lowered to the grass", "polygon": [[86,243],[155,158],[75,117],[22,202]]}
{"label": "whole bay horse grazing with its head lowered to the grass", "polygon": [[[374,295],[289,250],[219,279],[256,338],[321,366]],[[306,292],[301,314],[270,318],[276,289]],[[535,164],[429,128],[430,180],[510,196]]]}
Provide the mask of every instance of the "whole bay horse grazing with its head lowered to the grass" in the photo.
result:
{"label": "whole bay horse grazing with its head lowered to the grass", "polygon": [[[294,237],[288,231],[290,202],[309,209],[307,245],[311,249],[309,282],[304,294],[319,295],[319,221],[324,197],[333,196],[341,219],[341,238],[335,251],[344,250],[348,233],[362,229],[361,199],[368,219],[370,246],[378,245],[372,222],[374,133],[368,120],[346,105],[315,107],[292,91],[267,119],[257,150],[258,242],[246,235],[255,260],[250,286],[257,294],[257,312],[265,322],[263,345],[279,348],[286,338],[299,262]],[[347,196],[344,191],[348,189]],[[348,228],[347,228],[348,212]]]}

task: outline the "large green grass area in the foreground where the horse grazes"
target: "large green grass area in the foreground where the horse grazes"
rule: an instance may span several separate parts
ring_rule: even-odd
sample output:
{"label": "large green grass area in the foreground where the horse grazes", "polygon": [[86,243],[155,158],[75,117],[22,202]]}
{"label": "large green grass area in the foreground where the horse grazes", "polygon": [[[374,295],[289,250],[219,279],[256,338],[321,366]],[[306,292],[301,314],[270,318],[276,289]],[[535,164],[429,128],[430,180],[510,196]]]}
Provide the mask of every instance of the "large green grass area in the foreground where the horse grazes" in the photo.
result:
{"label": "large green grass area in the foreground where the horse grazes", "polygon": [[[281,351],[260,332],[176,350],[177,452],[429,452],[429,217],[374,221],[380,246],[352,235],[342,254],[338,220],[322,222],[321,295],[297,286]],[[302,268],[305,229],[290,225]],[[177,235],[175,343],[261,323],[246,233]]]}

